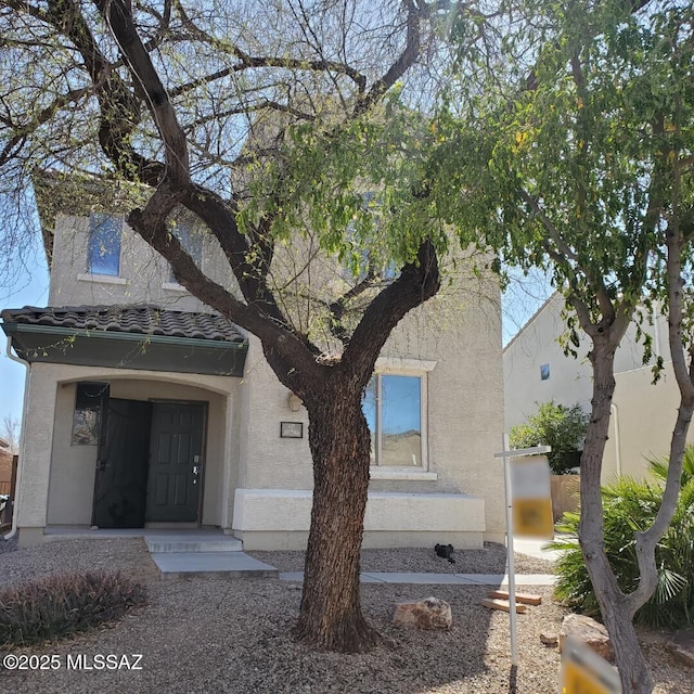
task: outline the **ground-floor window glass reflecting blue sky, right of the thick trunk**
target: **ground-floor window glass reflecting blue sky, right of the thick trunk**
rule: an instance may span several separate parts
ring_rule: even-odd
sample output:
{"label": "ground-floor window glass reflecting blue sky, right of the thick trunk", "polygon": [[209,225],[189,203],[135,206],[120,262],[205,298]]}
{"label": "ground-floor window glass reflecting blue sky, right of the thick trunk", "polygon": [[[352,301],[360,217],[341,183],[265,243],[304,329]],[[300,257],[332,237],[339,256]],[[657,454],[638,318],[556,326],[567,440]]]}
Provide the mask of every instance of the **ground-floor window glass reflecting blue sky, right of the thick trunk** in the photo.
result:
{"label": "ground-floor window glass reflecting blue sky, right of the thick trunk", "polygon": [[362,402],[371,432],[371,464],[425,465],[426,375],[376,373]]}

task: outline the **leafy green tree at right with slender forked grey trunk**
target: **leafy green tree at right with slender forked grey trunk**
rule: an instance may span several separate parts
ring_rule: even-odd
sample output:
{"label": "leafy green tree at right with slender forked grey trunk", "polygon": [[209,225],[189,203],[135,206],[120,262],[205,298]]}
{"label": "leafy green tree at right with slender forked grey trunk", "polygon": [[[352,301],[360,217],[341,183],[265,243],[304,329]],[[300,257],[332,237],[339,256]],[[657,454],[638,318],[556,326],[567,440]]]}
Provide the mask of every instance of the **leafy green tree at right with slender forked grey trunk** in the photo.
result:
{"label": "leafy green tree at right with slender forked grey trunk", "polygon": [[[567,351],[579,331],[591,343],[579,541],[622,690],[645,694],[653,682],[632,618],[657,584],[654,550],[676,507],[694,411],[694,12],[677,2],[539,2],[523,27],[506,37],[502,60],[477,65],[476,83],[472,73],[460,78],[473,99],[439,121],[428,191],[509,262],[549,268],[566,297]],[[668,314],[681,401],[663,504],[634,534],[639,587],[625,593],[604,551],[601,468],[615,351],[654,299]]]}

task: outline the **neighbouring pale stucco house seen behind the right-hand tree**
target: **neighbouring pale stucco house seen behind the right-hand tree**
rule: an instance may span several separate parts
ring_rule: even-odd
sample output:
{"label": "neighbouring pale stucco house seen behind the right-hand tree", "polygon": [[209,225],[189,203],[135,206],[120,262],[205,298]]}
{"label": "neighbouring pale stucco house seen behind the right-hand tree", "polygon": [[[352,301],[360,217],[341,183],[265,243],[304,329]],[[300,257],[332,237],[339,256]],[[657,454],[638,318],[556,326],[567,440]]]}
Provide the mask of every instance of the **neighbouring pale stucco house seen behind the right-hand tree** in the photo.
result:
{"label": "neighbouring pale stucco house seen behind the right-hand tree", "polygon": [[[504,408],[506,430],[537,411],[537,402],[576,402],[590,412],[592,368],[587,358],[590,339],[583,336],[578,357],[566,356],[558,339],[565,332],[564,299],[553,294],[504,347]],[[603,458],[603,481],[615,474],[642,476],[644,457],[669,450],[679,407],[679,389],[668,347],[667,318],[658,314],[642,330],[653,338],[653,358],[643,363],[643,343],[632,324],[615,355],[615,395],[609,438]],[[653,384],[652,367],[663,357],[665,370]],[[694,432],[690,430],[694,441]]]}

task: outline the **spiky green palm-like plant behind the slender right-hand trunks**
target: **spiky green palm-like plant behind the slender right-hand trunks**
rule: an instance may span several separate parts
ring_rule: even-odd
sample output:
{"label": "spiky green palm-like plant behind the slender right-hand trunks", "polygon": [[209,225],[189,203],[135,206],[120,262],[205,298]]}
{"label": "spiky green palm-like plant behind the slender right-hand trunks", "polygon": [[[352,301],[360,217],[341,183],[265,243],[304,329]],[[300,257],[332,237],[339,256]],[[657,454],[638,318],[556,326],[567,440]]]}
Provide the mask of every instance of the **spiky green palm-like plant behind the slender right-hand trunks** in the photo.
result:
{"label": "spiky green palm-like plant behind the slender right-hand trunks", "polygon": [[[605,551],[619,587],[633,591],[639,583],[634,532],[645,530],[663,499],[668,459],[648,461],[654,479],[619,477],[603,487]],[[578,545],[579,516],[565,513],[557,524],[568,539],[552,542],[566,550],[556,563],[555,594],[576,612],[600,617],[600,607]],[[637,624],[679,629],[694,625],[694,447],[687,446],[682,489],[672,523],[656,547],[658,586],[651,600],[634,616]]]}

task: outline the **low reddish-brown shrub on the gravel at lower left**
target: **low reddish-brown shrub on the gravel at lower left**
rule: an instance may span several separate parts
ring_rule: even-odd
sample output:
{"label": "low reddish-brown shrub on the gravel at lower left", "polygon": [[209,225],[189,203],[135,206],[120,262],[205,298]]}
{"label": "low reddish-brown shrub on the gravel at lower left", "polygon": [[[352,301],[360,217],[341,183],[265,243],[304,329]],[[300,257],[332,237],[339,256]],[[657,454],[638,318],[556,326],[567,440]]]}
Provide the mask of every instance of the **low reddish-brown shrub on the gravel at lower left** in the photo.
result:
{"label": "low reddish-brown shrub on the gravel at lower left", "polygon": [[120,574],[49,576],[0,592],[0,646],[29,645],[120,619],[146,593]]}

